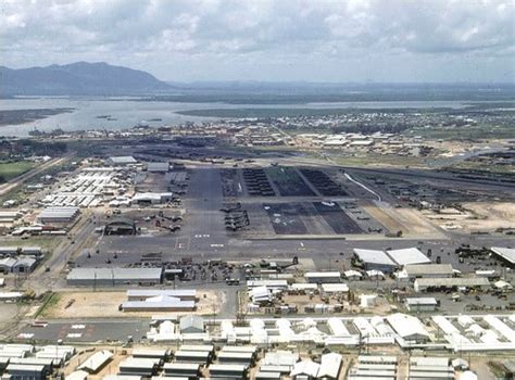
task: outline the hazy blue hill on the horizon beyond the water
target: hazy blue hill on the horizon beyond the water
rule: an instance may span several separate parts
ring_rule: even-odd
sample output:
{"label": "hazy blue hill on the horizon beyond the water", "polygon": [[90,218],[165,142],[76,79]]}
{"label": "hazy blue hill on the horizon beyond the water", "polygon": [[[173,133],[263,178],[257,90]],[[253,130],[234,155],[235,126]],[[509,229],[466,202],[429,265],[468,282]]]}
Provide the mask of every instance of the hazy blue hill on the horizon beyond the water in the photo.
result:
{"label": "hazy blue hill on the horizon beyond the water", "polygon": [[77,62],[21,69],[0,66],[2,97],[137,94],[171,89],[169,85],[149,73],[103,62]]}

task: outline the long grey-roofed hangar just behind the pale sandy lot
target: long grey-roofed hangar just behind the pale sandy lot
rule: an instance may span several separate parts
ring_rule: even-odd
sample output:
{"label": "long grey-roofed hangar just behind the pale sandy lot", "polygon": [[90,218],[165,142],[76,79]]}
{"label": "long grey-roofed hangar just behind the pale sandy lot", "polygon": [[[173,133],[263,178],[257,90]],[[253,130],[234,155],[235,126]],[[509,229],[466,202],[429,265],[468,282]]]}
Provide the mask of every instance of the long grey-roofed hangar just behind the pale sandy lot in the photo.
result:
{"label": "long grey-roofed hangar just behind the pale sandy lot", "polygon": [[161,268],[73,268],[66,283],[72,287],[152,286],[162,279]]}

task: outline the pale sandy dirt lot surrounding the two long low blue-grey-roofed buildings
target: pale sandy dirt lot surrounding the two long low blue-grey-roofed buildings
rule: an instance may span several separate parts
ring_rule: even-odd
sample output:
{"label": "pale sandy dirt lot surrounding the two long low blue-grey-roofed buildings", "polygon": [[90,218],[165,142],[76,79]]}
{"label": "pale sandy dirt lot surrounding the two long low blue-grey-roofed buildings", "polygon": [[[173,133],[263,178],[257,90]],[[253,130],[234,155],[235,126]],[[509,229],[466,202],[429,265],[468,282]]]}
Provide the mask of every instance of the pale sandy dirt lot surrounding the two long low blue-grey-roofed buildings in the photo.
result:
{"label": "pale sandy dirt lot surrounding the two long low blue-grey-roofed buildings", "polygon": [[[223,293],[214,290],[197,291],[199,301],[194,314],[218,313],[225,302]],[[121,312],[120,304],[127,300],[126,292],[65,292],[56,293],[42,312],[43,318],[103,318],[103,317],[150,317],[171,312]],[[66,307],[67,306],[67,307]],[[188,314],[179,312],[178,314]]]}

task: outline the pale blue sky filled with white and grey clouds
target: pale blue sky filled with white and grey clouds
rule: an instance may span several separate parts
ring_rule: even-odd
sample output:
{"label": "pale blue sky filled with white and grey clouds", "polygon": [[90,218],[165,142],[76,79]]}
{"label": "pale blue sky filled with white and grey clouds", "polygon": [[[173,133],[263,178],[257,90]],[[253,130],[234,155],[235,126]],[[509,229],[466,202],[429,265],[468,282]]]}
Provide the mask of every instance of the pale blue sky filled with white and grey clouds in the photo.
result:
{"label": "pale blue sky filled with white and grey clouds", "polygon": [[515,83],[515,0],[1,0],[0,65],[163,80]]}

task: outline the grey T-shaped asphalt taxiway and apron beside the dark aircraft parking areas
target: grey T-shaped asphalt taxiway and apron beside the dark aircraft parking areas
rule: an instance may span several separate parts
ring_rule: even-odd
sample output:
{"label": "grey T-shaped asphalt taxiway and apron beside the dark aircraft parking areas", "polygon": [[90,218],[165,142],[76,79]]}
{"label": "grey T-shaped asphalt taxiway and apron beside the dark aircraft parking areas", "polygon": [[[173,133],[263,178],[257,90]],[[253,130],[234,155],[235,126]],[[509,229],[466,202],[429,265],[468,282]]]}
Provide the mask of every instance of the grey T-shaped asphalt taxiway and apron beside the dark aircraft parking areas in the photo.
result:
{"label": "grey T-shaped asphalt taxiway and apron beside the dark aircraft parking areas", "polygon": [[[319,257],[324,262],[338,257],[341,252],[346,255],[350,254],[353,248],[401,249],[417,246],[419,242],[417,239],[378,239],[377,236],[367,235],[352,236],[349,240],[330,236],[324,238],[312,236],[309,239],[294,236],[241,239],[227,233],[224,226],[224,213],[219,212],[219,208],[224,206],[219,169],[201,166],[193,169],[190,177],[188,193],[183,197],[186,216],[184,227],[179,232],[167,236],[103,237],[99,244],[101,253],[123,252],[130,257],[141,253],[162,252],[163,256],[169,256],[169,261],[193,257],[199,262],[212,258],[288,258],[297,255]],[[281,198],[272,200],[281,200]],[[313,198],[309,200],[314,201]],[[435,254],[441,252],[442,262],[454,261],[451,256],[447,257],[447,252],[453,252],[461,243],[470,243],[473,246],[480,248],[510,245],[514,242],[514,239],[508,236],[461,236],[449,231],[444,231],[444,236],[443,239],[425,239],[422,245],[431,248]],[[128,262],[130,259],[127,258]],[[457,259],[452,264],[460,268]]]}

